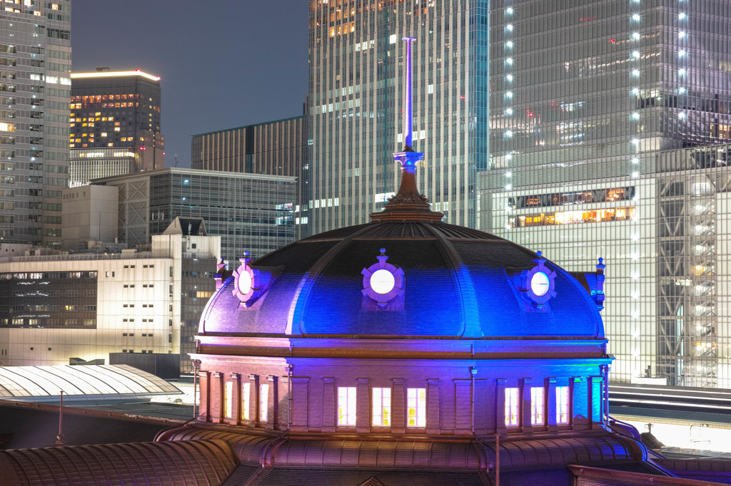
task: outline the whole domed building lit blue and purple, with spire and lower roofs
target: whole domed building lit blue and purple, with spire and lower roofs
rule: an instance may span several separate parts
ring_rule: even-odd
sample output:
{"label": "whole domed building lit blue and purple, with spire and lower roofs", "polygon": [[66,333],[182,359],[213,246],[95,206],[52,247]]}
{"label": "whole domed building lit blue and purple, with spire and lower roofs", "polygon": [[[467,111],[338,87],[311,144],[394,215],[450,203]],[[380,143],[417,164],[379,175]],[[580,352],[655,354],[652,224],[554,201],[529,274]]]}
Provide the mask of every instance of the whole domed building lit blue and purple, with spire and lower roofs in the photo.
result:
{"label": "whole domed building lit blue and purple, with spire and lower roofs", "polygon": [[0,451],[0,478],[98,469],[107,482],[170,482],[179,468],[190,485],[731,482],[728,462],[652,455],[608,417],[602,261],[572,274],[442,222],[417,188],[424,154],[404,125],[401,185],[371,223],[219,266],[192,355],[197,420],[103,452]]}

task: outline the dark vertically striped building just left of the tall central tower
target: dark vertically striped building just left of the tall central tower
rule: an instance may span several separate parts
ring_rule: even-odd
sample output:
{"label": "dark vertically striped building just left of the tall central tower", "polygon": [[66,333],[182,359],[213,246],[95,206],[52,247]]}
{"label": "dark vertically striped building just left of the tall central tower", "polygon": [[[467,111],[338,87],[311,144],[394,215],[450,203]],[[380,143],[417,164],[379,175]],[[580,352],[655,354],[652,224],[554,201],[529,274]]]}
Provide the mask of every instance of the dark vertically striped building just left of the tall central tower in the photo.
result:
{"label": "dark vertically striped building just left of the tall central tower", "polygon": [[295,226],[307,224],[307,117],[286,118],[194,135],[191,167],[212,171],[294,176],[298,192]]}

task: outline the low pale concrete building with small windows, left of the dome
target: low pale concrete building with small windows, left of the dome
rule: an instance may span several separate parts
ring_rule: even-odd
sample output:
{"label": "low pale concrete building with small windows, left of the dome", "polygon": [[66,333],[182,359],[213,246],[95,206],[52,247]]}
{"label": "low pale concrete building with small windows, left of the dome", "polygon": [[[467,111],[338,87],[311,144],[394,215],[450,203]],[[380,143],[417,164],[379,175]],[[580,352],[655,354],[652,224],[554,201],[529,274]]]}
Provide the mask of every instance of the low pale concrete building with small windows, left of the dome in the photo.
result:
{"label": "low pale concrete building with small windows, left of the dome", "polygon": [[219,236],[171,228],[144,251],[28,253],[0,258],[0,366],[109,363],[121,352],[183,355],[190,371],[190,314],[215,287]]}

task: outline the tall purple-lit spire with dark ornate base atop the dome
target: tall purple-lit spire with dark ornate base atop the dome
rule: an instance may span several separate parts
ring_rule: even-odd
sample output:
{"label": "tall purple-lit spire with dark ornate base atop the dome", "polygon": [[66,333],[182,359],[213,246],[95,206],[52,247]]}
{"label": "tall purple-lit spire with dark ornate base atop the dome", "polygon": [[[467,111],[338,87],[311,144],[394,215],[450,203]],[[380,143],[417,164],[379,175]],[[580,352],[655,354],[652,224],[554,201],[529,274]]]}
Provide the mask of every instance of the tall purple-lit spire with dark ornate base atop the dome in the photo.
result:
{"label": "tall purple-lit spire with dark ornate base atop the dome", "polygon": [[416,166],[423,160],[424,154],[414,151],[412,147],[412,43],[414,37],[404,37],[406,41],[406,75],[404,76],[404,150],[393,154],[395,161],[401,163],[401,185],[398,193],[388,200],[382,212],[371,214],[371,220],[400,221],[421,220],[441,221],[441,212],[430,209],[428,198],[419,192],[416,185]]}

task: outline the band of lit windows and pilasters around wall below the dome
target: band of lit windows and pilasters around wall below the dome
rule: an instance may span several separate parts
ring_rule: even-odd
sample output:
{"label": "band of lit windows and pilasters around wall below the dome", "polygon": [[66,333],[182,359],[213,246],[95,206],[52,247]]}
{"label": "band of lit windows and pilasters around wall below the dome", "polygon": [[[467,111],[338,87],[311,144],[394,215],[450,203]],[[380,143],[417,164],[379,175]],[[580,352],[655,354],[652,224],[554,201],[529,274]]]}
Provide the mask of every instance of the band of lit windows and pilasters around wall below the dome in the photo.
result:
{"label": "band of lit windows and pilasters around wall below the dome", "polygon": [[[366,378],[343,383],[344,380],[334,378],[311,380],[207,371],[198,376],[202,420],[260,428],[279,428],[291,421],[295,428],[311,429],[319,423],[313,416],[319,415],[323,431],[328,426],[435,431],[444,428],[439,422],[444,422],[447,407],[461,415],[456,422],[475,420],[469,416],[480,414],[477,420],[481,423],[491,423],[503,431],[521,431],[526,426],[570,428],[574,416],[601,421],[596,409],[596,398],[601,394],[600,378],[455,380],[455,400],[447,405],[452,399],[444,396],[446,390],[442,387],[446,384],[440,387],[439,379],[409,379],[408,385],[404,379],[394,379],[393,386],[382,387],[371,385]],[[419,386],[420,382],[425,382],[425,386]],[[514,382],[518,386],[512,385]],[[578,385],[582,382],[588,385]],[[590,398],[593,395],[597,396]],[[585,410],[586,407],[591,410]],[[465,427],[457,424],[455,428]]]}

